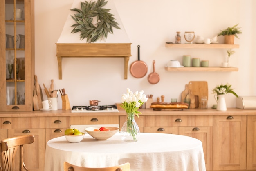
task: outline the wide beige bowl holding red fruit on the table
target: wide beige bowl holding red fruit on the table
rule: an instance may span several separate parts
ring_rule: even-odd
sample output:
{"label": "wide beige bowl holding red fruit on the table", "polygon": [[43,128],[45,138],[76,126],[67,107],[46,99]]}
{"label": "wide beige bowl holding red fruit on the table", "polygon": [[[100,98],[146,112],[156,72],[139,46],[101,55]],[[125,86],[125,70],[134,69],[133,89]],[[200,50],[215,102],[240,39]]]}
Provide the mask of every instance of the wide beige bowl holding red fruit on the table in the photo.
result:
{"label": "wide beige bowl holding red fruit on the table", "polygon": [[110,131],[93,131],[94,129],[99,129],[100,127],[89,127],[85,128],[85,131],[91,135],[93,138],[95,138],[98,141],[104,141],[108,138],[112,137],[119,131],[119,128],[117,127],[105,127],[110,129]]}

